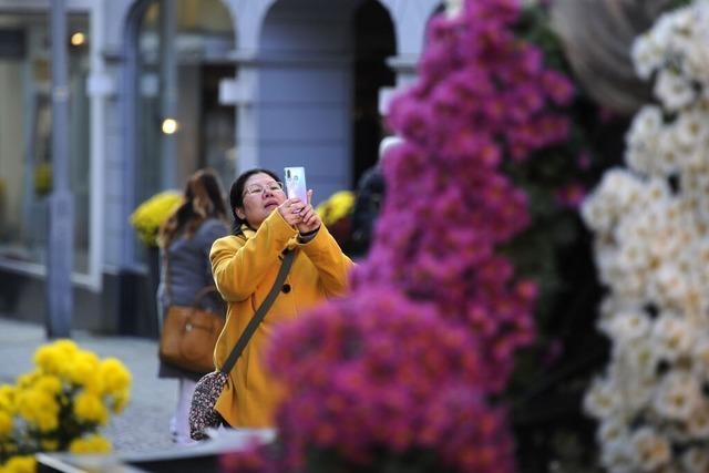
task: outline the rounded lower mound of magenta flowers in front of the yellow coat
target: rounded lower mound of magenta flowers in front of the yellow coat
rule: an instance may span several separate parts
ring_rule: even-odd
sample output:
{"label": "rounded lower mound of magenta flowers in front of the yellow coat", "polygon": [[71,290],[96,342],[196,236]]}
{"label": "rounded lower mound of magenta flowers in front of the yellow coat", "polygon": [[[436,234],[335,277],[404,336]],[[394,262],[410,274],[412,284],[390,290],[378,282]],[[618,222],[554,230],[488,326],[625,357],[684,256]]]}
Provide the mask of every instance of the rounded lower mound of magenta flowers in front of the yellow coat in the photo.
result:
{"label": "rounded lower mound of magenta flowers in front of the yellow coat", "polygon": [[[505,471],[512,456],[502,412],[476,388],[494,376],[466,328],[442,323],[434,304],[391,289],[362,289],[280,332],[271,357],[289,387],[279,433],[287,464],[312,445],[350,464],[393,453],[436,452],[451,471]],[[454,415],[452,413],[454,412]],[[306,467],[306,471],[311,471]]]}

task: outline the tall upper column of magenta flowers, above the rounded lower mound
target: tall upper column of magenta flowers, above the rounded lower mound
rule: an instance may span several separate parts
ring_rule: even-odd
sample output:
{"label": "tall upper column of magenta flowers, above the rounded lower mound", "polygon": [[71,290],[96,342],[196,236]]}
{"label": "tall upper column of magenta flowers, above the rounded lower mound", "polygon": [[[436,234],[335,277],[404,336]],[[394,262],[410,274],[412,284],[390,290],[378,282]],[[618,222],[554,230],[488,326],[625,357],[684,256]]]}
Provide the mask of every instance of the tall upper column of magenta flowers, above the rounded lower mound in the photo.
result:
{"label": "tall upper column of magenta flowers, above the rounded lower mound", "polygon": [[514,352],[534,338],[536,287],[497,250],[528,225],[527,196],[501,164],[565,140],[569,120],[554,110],[574,95],[514,35],[518,11],[516,1],[476,0],[432,21],[421,80],[392,104],[405,143],[384,160],[384,208],[353,276],[356,291],[388,285],[467,326],[494,367],[477,385],[485,393],[506,385]]}

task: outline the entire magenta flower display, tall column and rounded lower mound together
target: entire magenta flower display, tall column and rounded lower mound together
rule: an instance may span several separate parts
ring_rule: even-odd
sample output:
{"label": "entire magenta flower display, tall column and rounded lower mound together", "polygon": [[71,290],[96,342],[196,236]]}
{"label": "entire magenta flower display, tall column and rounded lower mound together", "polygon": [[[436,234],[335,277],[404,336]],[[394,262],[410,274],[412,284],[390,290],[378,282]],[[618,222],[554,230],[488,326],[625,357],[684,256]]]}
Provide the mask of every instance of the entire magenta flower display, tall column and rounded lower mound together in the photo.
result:
{"label": "entire magenta flower display, tall column and rounded lower mound together", "polygon": [[382,450],[428,452],[438,471],[515,470],[491,399],[535,337],[537,290],[500,251],[530,220],[501,167],[565,140],[554,110],[574,95],[515,37],[518,13],[514,0],[469,0],[432,20],[420,80],[388,117],[404,143],[384,160],[387,199],[352,294],[284,327],[269,354],[287,392],[281,471],[316,471],[317,452],[380,471]]}

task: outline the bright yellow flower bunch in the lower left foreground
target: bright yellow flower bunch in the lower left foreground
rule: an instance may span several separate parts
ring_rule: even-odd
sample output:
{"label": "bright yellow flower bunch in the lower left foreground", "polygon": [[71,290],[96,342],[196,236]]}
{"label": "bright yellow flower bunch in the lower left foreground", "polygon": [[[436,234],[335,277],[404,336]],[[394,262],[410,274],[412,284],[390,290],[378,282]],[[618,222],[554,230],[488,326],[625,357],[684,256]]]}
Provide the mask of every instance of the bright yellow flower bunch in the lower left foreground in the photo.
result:
{"label": "bright yellow flower bunch in the lower left foreground", "polygon": [[131,373],[71,340],[40,347],[34,369],[0,385],[0,472],[35,471],[38,452],[104,453],[100,434],[131,395]]}

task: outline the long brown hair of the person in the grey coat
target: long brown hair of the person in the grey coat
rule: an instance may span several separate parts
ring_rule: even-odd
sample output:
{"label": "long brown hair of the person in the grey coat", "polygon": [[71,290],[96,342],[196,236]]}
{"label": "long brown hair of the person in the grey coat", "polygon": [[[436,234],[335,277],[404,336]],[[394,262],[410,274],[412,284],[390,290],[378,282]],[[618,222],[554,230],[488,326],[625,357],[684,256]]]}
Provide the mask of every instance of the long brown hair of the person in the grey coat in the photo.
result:
{"label": "long brown hair of the person in the grey coat", "polygon": [[185,185],[185,202],[173,212],[160,229],[160,246],[166,248],[178,234],[192,238],[207,218],[227,220],[222,182],[213,169],[194,173]]}

